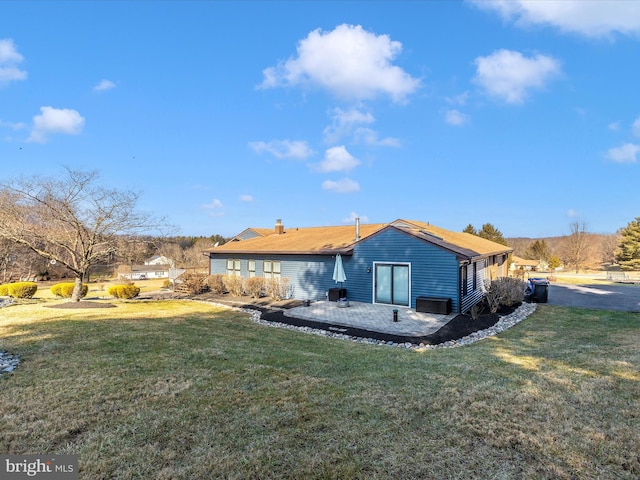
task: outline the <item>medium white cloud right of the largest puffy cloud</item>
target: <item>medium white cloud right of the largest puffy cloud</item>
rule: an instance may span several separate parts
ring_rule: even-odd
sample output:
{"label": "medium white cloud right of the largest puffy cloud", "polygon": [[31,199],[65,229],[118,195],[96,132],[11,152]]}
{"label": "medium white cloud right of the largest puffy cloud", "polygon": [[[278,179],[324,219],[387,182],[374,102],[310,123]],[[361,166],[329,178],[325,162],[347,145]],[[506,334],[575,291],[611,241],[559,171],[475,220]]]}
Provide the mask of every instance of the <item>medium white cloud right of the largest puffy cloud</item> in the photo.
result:
{"label": "medium white cloud right of the largest puffy cloud", "polygon": [[537,54],[527,58],[513,50],[498,50],[475,59],[474,81],[485,91],[507,103],[523,103],[529,90],[542,88],[561,72],[560,62]]}

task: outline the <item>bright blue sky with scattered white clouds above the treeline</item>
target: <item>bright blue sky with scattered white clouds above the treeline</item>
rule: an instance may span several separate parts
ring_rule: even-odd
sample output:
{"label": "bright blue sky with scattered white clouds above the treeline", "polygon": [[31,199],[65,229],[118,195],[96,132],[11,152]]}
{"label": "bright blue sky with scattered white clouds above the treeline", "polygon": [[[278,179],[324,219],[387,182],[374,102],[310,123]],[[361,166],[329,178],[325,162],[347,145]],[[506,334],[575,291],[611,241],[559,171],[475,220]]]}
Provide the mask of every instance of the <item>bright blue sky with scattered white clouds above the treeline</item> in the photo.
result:
{"label": "bright blue sky with scattered white clouds above the treeline", "polygon": [[95,169],[183,235],[640,215],[640,2],[2,2],[0,179]]}

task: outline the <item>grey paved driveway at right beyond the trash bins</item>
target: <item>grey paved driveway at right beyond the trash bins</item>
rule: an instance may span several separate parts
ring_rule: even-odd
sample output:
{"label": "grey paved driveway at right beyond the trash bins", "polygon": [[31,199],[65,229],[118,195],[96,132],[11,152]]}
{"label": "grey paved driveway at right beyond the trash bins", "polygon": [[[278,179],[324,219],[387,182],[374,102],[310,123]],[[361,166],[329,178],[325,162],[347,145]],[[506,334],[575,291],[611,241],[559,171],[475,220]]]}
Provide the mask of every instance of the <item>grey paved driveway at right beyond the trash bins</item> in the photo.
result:
{"label": "grey paved driveway at right beyond the trash bins", "polygon": [[640,312],[640,285],[549,286],[549,305]]}

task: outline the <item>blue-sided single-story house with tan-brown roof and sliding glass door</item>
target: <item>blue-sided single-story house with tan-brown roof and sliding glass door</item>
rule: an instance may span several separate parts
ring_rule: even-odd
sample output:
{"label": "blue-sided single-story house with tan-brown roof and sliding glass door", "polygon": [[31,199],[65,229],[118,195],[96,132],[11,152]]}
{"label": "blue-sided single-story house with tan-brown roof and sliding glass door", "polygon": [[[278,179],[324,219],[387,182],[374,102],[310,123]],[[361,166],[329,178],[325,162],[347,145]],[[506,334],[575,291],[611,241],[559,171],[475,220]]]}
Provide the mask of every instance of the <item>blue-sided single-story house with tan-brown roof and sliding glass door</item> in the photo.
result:
{"label": "blue-sided single-story house with tan-brown roof and sliding glass door", "polygon": [[[337,300],[465,313],[483,297],[486,280],[508,274],[511,248],[429,223],[248,228],[207,250],[210,273],[288,279],[299,300]],[[333,279],[340,255],[346,281]]]}

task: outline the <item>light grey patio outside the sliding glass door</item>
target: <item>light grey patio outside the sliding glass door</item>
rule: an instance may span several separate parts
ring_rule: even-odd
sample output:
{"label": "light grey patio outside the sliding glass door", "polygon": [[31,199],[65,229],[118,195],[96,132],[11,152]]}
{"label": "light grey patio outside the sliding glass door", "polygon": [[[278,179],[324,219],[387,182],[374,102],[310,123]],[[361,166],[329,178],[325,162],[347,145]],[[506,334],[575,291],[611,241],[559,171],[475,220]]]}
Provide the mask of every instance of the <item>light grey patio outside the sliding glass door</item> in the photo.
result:
{"label": "light grey patio outside the sliding glass door", "polygon": [[[393,310],[398,311],[398,321],[393,321]],[[374,332],[421,337],[430,335],[446,325],[457,314],[437,315],[419,313],[408,307],[349,301],[349,307],[341,308],[338,302],[317,301],[310,306],[300,306],[284,311],[287,317],[300,318],[329,325],[338,325]]]}

